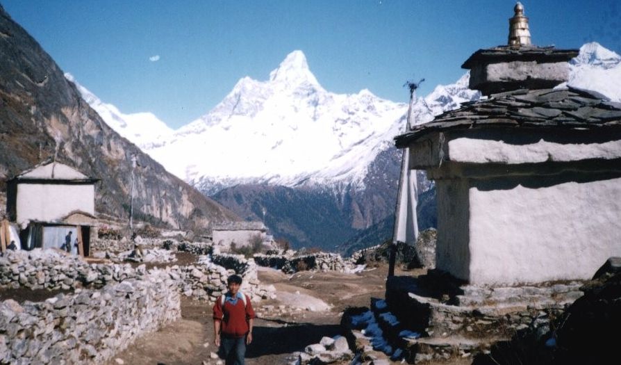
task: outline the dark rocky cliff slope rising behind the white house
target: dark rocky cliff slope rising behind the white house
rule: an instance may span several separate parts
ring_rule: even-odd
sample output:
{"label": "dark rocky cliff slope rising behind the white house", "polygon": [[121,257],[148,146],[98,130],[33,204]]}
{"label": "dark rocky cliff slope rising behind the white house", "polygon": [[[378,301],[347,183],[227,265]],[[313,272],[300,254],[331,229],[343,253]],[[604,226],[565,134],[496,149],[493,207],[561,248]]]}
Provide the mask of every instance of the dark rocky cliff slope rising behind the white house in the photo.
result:
{"label": "dark rocky cliff slope rising behind the white house", "polygon": [[238,216],[174,177],[119,136],[81,99],[73,83],[0,6],[0,190],[6,179],[52,158],[101,179],[95,209],[129,217],[131,159],[135,218],[156,225],[206,230]]}

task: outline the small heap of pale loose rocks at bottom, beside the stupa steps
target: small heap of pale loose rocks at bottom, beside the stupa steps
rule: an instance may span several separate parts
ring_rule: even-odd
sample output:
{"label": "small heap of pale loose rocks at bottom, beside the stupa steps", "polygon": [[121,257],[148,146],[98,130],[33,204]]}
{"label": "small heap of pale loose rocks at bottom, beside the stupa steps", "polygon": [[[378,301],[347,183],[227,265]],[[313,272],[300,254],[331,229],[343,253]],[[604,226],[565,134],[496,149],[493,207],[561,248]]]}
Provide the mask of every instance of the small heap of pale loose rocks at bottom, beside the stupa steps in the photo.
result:
{"label": "small heap of pale loose rocks at bottom, beside the stupa steps", "polygon": [[304,352],[297,352],[297,360],[292,364],[342,364],[354,357],[349,350],[347,339],[343,336],[323,337],[320,343],[313,343],[304,348]]}

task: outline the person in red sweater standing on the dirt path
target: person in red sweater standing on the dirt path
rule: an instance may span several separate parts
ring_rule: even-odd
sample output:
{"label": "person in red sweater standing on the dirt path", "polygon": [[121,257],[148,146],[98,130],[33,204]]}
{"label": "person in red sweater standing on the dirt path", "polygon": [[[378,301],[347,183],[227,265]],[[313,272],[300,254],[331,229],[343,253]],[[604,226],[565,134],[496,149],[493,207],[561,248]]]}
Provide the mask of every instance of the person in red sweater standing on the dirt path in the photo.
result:
{"label": "person in red sweater standing on the dirt path", "polygon": [[229,291],[213,306],[213,342],[220,347],[226,365],[244,365],[246,345],[252,342],[254,309],[248,295],[240,292],[241,284],[242,277],[229,276],[226,279]]}

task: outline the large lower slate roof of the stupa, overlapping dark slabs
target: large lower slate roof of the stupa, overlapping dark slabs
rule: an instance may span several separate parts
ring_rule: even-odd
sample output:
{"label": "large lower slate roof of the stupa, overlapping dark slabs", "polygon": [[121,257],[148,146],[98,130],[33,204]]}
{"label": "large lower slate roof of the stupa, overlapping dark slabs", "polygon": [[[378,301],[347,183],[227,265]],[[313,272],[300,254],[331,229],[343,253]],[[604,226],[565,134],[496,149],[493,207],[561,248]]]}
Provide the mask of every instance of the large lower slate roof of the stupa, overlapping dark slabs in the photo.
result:
{"label": "large lower slate roof of the stupa, overlapping dark slabs", "polygon": [[513,90],[464,103],[461,108],[438,115],[432,122],[417,125],[412,131],[395,137],[395,143],[403,148],[433,131],[494,126],[621,129],[621,103],[573,88]]}

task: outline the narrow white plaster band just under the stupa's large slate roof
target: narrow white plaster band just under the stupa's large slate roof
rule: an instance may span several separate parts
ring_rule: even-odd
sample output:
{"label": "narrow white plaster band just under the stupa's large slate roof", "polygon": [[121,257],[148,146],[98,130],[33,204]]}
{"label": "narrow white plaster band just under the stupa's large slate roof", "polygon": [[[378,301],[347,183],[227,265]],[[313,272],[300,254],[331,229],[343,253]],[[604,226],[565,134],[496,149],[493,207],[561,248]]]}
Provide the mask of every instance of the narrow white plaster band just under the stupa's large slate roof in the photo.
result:
{"label": "narrow white plaster band just under the stupa's large slate roof", "polygon": [[621,140],[573,144],[539,140],[528,145],[512,145],[503,140],[462,137],[449,140],[448,145],[450,161],[468,163],[541,163],[621,157]]}

